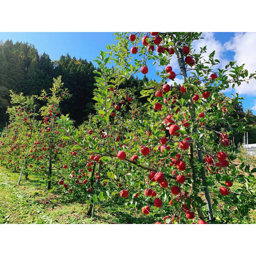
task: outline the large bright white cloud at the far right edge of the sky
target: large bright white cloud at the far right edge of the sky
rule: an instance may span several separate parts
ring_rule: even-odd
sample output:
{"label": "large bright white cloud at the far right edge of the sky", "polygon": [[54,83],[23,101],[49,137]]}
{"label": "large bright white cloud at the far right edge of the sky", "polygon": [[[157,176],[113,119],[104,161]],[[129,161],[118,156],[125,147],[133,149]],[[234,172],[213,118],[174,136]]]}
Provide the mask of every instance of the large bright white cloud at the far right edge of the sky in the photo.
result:
{"label": "large bright white cloud at the far right edge of the sky", "polygon": [[[255,47],[256,47],[256,33],[235,33],[235,36],[229,42],[224,44],[226,50],[235,52],[234,61],[237,65],[245,64],[245,69],[248,69],[249,74],[256,70],[255,63]],[[249,84],[246,82],[240,86],[236,86],[235,92],[247,96],[256,96],[256,80],[251,79]],[[252,108],[256,110],[256,106]]]}

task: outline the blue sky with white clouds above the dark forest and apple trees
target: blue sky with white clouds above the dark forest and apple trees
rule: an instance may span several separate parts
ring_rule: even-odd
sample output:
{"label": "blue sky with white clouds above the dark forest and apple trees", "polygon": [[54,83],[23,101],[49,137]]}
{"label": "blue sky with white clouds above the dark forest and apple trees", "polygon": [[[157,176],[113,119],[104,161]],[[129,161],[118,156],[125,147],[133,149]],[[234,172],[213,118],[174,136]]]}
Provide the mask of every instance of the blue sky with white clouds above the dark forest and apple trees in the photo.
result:
{"label": "blue sky with white clouds above the dark forest and apple trees", "polygon": [[[28,42],[34,44],[38,53],[46,52],[51,60],[59,59],[61,55],[69,53],[71,57],[83,58],[92,61],[105,50],[107,44],[114,43],[115,36],[108,32],[10,32],[0,33],[0,39],[5,42],[7,39]],[[208,52],[216,50],[215,57],[221,63],[226,64],[230,60],[238,60],[238,64],[246,63],[249,72],[256,70],[254,65],[256,45],[256,33],[233,33],[233,32],[207,32],[203,33],[204,38],[195,47],[207,45]],[[96,65],[96,63],[94,63]],[[175,64],[173,64],[175,70]],[[177,67],[176,67],[177,68]],[[155,78],[155,68],[149,69],[149,78]],[[178,82],[177,78],[177,82]],[[250,108],[256,114],[256,80],[250,81],[249,85],[244,84],[235,90],[225,91],[227,96],[230,93],[238,92],[244,97],[243,106]]]}

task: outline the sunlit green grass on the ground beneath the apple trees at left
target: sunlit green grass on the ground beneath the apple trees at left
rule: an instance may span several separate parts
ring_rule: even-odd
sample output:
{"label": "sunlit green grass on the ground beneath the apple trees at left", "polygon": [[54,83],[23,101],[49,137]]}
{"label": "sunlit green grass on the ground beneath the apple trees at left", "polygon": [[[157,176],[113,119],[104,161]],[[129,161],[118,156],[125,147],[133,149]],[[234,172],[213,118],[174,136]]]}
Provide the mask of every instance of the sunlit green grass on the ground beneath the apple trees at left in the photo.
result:
{"label": "sunlit green grass on the ground beneath the apple trees at left", "polygon": [[86,215],[88,205],[63,203],[58,196],[45,190],[45,181],[34,176],[23,178],[19,173],[0,167],[0,224],[126,224],[152,223],[150,217],[137,210],[115,207],[95,209],[95,218]]}

